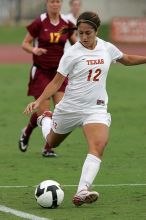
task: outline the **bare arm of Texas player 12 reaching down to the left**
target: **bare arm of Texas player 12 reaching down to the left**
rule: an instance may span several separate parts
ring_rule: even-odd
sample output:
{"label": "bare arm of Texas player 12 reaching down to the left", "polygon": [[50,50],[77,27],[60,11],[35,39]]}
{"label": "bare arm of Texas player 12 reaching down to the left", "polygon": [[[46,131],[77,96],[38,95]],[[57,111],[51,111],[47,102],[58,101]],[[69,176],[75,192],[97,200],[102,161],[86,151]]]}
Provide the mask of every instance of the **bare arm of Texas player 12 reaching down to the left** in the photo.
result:
{"label": "bare arm of Texas player 12 reaching down to the left", "polygon": [[34,109],[37,109],[40,106],[41,102],[53,96],[59,90],[64,80],[65,76],[63,76],[60,73],[57,73],[54,79],[46,86],[41,96],[36,101],[31,102],[27,105],[26,109],[24,110],[24,113],[29,114]]}

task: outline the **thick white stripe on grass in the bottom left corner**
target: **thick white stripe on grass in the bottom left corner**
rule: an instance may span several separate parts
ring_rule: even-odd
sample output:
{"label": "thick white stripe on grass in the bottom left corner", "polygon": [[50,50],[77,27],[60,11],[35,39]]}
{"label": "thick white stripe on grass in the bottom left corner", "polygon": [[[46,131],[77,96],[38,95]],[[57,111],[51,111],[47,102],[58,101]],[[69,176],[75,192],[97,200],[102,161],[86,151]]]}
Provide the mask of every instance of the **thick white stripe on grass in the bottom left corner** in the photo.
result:
{"label": "thick white stripe on grass in the bottom left corner", "polygon": [[0,205],[0,211],[5,212],[5,213],[10,213],[12,215],[15,215],[15,216],[18,216],[18,217],[21,217],[21,218],[24,218],[24,219],[29,219],[29,220],[51,220],[51,219],[48,219],[48,218],[41,218],[41,217],[36,216],[36,215],[31,215],[31,214],[26,213],[26,212],[21,212],[21,211],[15,210],[15,209],[11,209],[11,208],[9,208],[7,206],[3,206],[3,205]]}

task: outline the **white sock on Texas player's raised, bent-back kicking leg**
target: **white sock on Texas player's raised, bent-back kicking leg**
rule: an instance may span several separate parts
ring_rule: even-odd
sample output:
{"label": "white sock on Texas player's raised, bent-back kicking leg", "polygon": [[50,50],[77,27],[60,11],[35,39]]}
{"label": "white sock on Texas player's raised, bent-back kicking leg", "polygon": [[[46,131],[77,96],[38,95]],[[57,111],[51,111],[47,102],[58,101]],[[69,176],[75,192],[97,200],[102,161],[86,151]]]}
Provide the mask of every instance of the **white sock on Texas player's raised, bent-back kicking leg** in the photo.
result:
{"label": "white sock on Texas player's raised, bent-back kicking leg", "polygon": [[52,119],[49,117],[45,117],[42,119],[42,133],[45,140],[47,139],[47,135],[51,131]]}

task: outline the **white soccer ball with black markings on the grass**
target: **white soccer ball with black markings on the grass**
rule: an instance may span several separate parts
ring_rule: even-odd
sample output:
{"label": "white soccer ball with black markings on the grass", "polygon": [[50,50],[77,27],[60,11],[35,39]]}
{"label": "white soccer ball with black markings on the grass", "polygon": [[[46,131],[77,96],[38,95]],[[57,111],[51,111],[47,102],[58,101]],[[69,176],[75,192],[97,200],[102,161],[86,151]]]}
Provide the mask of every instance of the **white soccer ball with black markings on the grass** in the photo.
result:
{"label": "white soccer ball with black markings on the grass", "polygon": [[45,180],[35,189],[37,203],[43,208],[57,208],[64,199],[64,191],[54,180]]}

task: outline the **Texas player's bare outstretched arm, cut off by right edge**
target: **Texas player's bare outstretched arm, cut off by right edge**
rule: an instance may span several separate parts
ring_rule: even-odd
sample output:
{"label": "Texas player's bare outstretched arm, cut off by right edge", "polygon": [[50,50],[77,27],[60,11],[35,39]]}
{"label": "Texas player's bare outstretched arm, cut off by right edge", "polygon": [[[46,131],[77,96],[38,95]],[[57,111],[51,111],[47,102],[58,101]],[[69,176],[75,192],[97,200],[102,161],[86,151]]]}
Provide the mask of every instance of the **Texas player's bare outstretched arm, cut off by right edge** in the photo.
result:
{"label": "Texas player's bare outstretched arm, cut off by right edge", "polygon": [[121,59],[117,60],[117,62],[126,66],[139,65],[146,63],[146,57],[139,55],[124,54]]}

